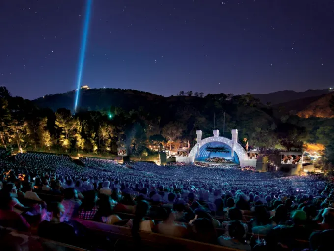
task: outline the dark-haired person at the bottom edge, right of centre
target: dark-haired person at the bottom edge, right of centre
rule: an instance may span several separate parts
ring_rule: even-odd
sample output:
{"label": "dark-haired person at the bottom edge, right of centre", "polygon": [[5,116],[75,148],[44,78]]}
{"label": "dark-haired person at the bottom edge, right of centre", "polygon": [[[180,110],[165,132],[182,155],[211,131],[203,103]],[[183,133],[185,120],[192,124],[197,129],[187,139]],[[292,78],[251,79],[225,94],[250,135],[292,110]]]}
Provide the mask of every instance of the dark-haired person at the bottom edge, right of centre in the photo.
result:
{"label": "dark-haired person at the bottom edge, right of centre", "polygon": [[246,242],[245,236],[243,223],[239,220],[232,220],[228,223],[228,235],[218,237],[218,243],[224,247],[251,251],[251,246]]}

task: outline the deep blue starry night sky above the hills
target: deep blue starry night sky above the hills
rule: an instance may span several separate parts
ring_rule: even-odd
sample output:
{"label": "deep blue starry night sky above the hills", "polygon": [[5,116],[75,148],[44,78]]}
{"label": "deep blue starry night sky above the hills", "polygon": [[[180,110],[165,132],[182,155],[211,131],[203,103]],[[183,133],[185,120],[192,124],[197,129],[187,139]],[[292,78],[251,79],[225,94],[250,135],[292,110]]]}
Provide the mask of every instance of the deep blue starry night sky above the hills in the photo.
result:
{"label": "deep blue starry night sky above the hills", "polygon": [[[76,88],[86,0],[0,0],[0,86]],[[93,0],[82,85],[164,96],[334,85],[333,0]]]}

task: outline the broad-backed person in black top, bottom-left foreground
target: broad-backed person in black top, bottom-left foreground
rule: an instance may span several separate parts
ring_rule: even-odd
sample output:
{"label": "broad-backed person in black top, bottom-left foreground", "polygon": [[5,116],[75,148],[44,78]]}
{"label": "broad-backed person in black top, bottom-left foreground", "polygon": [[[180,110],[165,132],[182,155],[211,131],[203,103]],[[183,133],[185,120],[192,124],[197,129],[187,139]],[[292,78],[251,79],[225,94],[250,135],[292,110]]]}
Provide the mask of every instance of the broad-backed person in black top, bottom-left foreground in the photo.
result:
{"label": "broad-backed person in black top, bottom-left foreground", "polygon": [[80,224],[76,221],[61,222],[64,207],[59,202],[53,202],[48,208],[52,214],[50,221],[42,221],[38,226],[38,236],[66,244],[81,246],[82,238]]}

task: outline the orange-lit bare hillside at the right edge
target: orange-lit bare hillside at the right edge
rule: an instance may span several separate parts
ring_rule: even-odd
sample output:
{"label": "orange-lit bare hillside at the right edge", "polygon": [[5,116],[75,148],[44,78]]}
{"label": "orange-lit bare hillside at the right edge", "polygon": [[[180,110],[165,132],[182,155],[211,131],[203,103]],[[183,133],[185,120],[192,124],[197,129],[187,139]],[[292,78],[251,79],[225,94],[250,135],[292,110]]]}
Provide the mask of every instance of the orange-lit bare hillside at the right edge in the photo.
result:
{"label": "orange-lit bare hillside at the right edge", "polygon": [[301,118],[306,118],[306,119],[310,117],[334,118],[334,113],[329,107],[331,97],[332,93],[322,96],[318,100],[306,106],[305,109],[298,112],[297,115]]}

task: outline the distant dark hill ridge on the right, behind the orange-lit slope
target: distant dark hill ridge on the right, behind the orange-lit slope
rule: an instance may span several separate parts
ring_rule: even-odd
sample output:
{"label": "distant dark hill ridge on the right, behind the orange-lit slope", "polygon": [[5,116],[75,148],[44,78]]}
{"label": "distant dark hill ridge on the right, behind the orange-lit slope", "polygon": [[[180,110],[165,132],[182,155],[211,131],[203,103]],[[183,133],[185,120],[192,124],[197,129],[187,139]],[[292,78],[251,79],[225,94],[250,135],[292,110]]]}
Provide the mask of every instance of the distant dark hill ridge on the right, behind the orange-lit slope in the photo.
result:
{"label": "distant dark hill ridge on the right, behind the orange-lit slope", "polygon": [[323,90],[307,90],[305,92],[295,92],[291,90],[278,91],[269,94],[253,94],[255,98],[260,99],[261,103],[267,104],[271,103],[272,105],[279,103],[286,103],[289,101],[307,98],[307,97],[315,97],[320,95],[328,94],[328,89]]}

